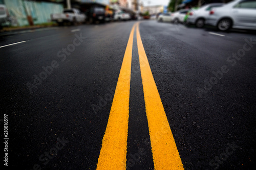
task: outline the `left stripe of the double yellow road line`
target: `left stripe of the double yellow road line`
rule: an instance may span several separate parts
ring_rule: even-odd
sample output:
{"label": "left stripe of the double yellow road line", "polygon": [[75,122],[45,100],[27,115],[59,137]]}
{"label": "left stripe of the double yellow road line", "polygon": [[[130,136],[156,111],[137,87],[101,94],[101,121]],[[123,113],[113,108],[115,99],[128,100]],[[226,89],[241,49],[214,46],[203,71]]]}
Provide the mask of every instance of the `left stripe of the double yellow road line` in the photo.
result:
{"label": "left stripe of the double yellow road line", "polygon": [[126,169],[134,24],[126,46],[97,169]]}

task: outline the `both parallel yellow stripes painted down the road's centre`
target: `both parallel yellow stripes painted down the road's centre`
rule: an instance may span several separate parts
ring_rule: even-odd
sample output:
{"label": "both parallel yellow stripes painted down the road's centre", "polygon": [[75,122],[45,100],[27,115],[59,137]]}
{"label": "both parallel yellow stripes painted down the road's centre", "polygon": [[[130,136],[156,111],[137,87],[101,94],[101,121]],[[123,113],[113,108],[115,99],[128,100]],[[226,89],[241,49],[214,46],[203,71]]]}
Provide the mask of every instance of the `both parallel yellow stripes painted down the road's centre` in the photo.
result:
{"label": "both parallel yellow stripes painted down the road's centre", "polygon": [[133,37],[136,28],[142,85],[155,169],[184,169],[135,23],[124,53],[97,169],[126,169]]}

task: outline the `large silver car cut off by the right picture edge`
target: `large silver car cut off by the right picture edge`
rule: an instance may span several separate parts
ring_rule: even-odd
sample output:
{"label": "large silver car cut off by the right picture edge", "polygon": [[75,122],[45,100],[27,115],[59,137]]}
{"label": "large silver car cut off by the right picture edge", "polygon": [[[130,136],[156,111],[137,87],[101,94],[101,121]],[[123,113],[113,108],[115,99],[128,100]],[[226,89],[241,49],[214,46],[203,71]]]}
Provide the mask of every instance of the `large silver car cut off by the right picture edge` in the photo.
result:
{"label": "large silver car cut off by the right picture edge", "polygon": [[223,7],[214,8],[205,23],[221,31],[231,28],[256,30],[256,1],[235,0]]}

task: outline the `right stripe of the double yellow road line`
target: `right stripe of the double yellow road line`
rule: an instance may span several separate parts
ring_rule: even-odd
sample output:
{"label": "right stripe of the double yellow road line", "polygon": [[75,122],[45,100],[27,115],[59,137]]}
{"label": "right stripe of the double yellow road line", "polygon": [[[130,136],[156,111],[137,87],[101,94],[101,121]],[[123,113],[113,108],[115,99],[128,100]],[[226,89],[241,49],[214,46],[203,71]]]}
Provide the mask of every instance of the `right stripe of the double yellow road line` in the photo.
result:
{"label": "right stripe of the double yellow road line", "polygon": [[136,28],[140,70],[148,129],[155,169],[184,169],[142,44]]}

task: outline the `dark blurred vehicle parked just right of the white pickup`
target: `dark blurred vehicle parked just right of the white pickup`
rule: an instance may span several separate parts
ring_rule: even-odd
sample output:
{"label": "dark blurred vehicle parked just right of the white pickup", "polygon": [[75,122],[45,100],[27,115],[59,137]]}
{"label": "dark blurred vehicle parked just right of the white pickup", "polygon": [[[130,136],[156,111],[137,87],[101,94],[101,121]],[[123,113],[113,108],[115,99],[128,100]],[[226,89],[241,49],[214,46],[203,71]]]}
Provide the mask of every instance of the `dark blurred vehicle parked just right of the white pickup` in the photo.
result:
{"label": "dark blurred vehicle parked just right of the white pickup", "polygon": [[95,23],[97,21],[105,21],[105,9],[102,7],[91,7],[86,11],[87,20],[89,23]]}

